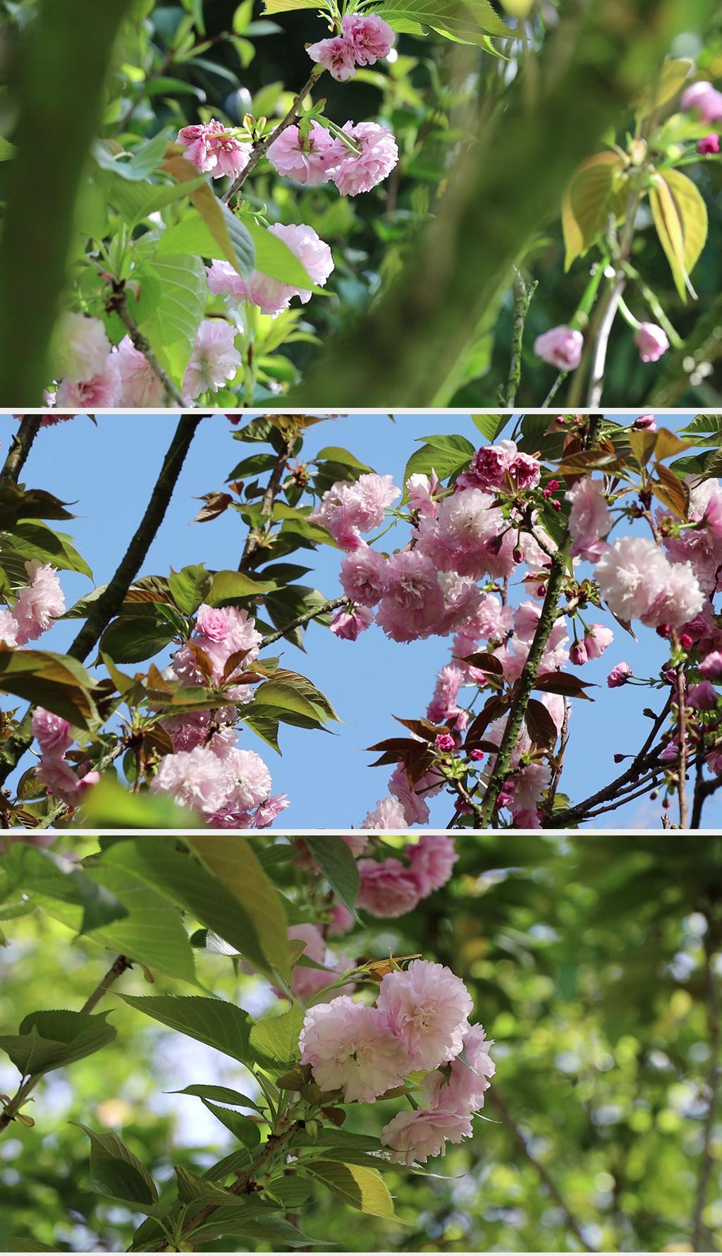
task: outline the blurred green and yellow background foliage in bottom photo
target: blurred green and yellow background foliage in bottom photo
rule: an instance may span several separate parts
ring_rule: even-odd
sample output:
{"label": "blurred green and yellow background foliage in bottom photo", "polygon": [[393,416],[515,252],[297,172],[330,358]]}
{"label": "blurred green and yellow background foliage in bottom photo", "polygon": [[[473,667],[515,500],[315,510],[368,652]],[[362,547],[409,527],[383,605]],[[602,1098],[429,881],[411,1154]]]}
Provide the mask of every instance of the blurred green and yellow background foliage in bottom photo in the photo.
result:
{"label": "blurred green and yellow background foliage in bottom photo", "polygon": [[[271,839],[251,840],[260,849]],[[59,843],[95,849],[79,835]],[[384,1174],[408,1227],[362,1222],[314,1188],[305,1232],[329,1250],[579,1250],[549,1174],[590,1250],[718,1250],[722,838],[488,833],[465,834],[457,849],[443,891],[411,916],[357,927],[343,946],[363,960],[422,952],[468,983],[497,1064],[475,1138],[429,1162],[439,1177]],[[281,879],[298,875],[276,868]],[[3,928],[3,1026],[39,1006],[80,1006],[108,966],[88,937],[72,945],[41,912]],[[274,1002],[261,978],[226,957],[198,952],[198,976],[254,1014]],[[159,973],[153,988],[188,992]],[[118,992],[147,993],[143,972],[126,973]],[[4,1248],[18,1250],[13,1236],[60,1250],[127,1246],[141,1218],[84,1187],[88,1144],[73,1120],[122,1132],[158,1182],[172,1163],[210,1164],[224,1137],[230,1149],[196,1099],[168,1091],[210,1081],[246,1090],[249,1074],[114,993],[103,1006],[117,1040],[46,1078],[28,1109],[34,1128],[14,1123],[0,1139]],[[6,1064],[0,1088],[10,1090]],[[375,1134],[392,1110],[352,1108],[349,1127]]]}

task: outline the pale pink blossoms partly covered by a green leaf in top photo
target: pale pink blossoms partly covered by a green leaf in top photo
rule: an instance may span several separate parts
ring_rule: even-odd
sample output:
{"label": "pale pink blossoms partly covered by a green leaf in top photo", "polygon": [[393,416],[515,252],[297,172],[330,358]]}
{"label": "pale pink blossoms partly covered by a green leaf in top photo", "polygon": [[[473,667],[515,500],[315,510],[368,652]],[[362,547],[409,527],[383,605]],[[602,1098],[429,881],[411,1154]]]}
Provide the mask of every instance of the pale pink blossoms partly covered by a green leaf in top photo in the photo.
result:
{"label": "pale pink blossoms partly covered by a green leaf in top photo", "polygon": [[[306,271],[313,284],[324,288],[334,269],[331,251],[318,232],[305,224],[284,226],[276,224],[269,227],[269,234],[277,236],[296,255],[301,266]],[[246,281],[242,275],[231,266],[230,261],[213,261],[207,270],[208,289],[213,296],[225,296],[231,309],[237,309],[241,301],[250,301],[257,305],[264,314],[276,318],[285,310],[293,296],[298,296],[303,305],[311,299],[308,288],[294,288],[283,284],[280,279],[271,275],[262,275],[260,270],[254,270]]]}

